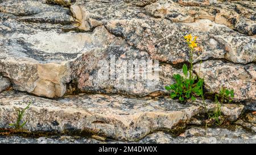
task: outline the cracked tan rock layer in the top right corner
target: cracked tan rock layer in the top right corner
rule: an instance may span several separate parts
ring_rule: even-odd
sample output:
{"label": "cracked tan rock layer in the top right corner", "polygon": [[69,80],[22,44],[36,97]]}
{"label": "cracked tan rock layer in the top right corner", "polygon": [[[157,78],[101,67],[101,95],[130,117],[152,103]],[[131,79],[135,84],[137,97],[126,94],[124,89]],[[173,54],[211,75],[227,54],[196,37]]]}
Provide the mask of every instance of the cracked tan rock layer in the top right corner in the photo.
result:
{"label": "cracked tan rock layer in the top right corner", "polygon": [[252,1],[160,0],[145,9],[157,18],[166,18],[172,22],[192,23],[196,19],[209,19],[240,33],[255,35],[255,6],[256,3]]}

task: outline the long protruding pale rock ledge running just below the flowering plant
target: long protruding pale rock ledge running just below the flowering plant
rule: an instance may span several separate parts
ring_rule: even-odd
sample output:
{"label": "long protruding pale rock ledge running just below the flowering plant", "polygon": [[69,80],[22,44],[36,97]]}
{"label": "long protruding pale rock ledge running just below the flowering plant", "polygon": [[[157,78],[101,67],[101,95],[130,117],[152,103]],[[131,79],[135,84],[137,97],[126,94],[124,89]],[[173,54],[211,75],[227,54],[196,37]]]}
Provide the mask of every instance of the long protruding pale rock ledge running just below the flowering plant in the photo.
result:
{"label": "long protruding pale rock ledge running just below the flowering plant", "polygon": [[[0,128],[10,128],[16,108],[30,108],[23,116],[29,131],[86,131],[110,139],[134,141],[155,131],[184,128],[189,120],[204,112],[200,103],[180,104],[168,97],[127,98],[120,95],[70,95],[44,99],[4,91],[0,94]],[[209,105],[212,103],[208,103]],[[243,106],[224,105],[222,113],[235,120]],[[233,112],[232,112],[233,111]]]}

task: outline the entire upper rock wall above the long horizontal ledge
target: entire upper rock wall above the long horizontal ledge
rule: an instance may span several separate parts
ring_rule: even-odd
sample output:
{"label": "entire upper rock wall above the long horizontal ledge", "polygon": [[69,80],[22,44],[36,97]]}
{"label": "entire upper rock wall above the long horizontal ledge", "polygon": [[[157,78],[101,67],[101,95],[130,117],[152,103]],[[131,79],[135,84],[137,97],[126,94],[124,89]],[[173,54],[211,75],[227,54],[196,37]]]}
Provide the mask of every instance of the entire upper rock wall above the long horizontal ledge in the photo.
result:
{"label": "entire upper rock wall above the long horizontal ledge", "polygon": [[[74,92],[137,97],[167,94],[164,86],[171,84],[172,75],[188,62],[183,36],[192,33],[199,36],[194,63],[198,68],[203,60],[207,89],[217,92],[218,86],[226,86],[235,90],[237,102],[255,102],[253,1],[0,3],[0,73],[10,78],[15,90],[48,98]],[[132,77],[128,80],[99,78],[102,66],[98,63],[109,62],[111,56],[116,61],[158,60],[158,81],[152,76],[134,79],[142,70],[128,73]],[[207,66],[212,61],[216,63]],[[121,72],[123,66],[117,64],[115,70],[127,78],[128,74]]]}

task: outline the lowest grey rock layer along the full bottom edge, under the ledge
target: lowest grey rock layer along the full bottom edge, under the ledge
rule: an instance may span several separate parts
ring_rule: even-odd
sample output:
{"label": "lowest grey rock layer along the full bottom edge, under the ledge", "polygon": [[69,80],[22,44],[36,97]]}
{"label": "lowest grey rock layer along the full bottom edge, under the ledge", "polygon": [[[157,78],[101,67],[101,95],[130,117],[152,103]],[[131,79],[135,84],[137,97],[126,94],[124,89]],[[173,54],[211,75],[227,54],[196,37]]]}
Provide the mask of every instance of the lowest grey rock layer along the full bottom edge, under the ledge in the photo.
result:
{"label": "lowest grey rock layer along the full bottom edge, under the ledge", "polygon": [[125,141],[98,141],[92,138],[84,138],[79,136],[52,136],[52,137],[39,137],[39,138],[24,138],[20,136],[0,136],[0,143],[39,143],[39,144],[255,144],[256,136],[253,133],[245,131],[241,127],[237,127],[234,131],[229,129],[208,128],[207,135],[205,129],[199,127],[192,127],[187,129],[180,136],[173,137],[168,133],[156,132],[152,133],[142,140],[135,142]]}

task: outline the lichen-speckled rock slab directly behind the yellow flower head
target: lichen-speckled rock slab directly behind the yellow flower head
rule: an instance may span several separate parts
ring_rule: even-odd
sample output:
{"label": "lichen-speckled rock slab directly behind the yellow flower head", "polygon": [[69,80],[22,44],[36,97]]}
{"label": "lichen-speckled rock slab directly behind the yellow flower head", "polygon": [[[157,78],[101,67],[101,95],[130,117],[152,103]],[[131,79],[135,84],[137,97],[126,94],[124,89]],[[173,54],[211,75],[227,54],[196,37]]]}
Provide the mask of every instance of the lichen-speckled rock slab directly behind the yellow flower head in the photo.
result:
{"label": "lichen-speckled rock slab directly behind the yellow flower head", "polygon": [[256,61],[256,39],[210,20],[189,24],[165,19],[113,20],[106,28],[125,37],[130,45],[147,51],[152,58],[172,65],[188,62],[189,49],[183,38],[187,33],[199,36],[200,48],[196,49],[195,62],[209,58],[225,58],[241,64]]}

